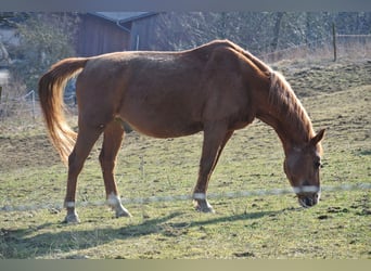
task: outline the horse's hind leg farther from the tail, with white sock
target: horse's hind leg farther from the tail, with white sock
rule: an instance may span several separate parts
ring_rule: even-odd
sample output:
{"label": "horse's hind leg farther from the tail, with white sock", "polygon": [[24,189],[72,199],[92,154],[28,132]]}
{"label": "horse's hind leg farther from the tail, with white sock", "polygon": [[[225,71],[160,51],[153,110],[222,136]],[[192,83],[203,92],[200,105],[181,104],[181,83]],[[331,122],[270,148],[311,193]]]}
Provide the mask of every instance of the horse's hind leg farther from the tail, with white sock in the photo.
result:
{"label": "horse's hind leg farther from the tail, with white sock", "polygon": [[116,217],[131,217],[130,212],[121,205],[114,177],[116,156],[123,139],[124,128],[121,122],[114,120],[107,125],[104,130],[103,146],[99,160],[102,167],[108,205],[115,210]]}

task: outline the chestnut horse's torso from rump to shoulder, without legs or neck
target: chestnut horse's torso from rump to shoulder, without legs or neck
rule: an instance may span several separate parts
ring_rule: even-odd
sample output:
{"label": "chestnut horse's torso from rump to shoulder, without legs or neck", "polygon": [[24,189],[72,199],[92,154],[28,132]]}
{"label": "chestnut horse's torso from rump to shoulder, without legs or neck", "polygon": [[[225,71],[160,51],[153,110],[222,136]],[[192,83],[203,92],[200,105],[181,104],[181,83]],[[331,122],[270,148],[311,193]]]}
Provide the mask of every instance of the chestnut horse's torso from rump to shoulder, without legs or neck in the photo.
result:
{"label": "chestnut horse's torso from rump to shoulder, without legs or neck", "polygon": [[94,109],[95,118],[104,111],[149,136],[197,132],[205,118],[228,118],[240,113],[234,105],[245,107],[232,50],[230,42],[215,41],[180,52],[92,57],[77,81],[78,102]]}

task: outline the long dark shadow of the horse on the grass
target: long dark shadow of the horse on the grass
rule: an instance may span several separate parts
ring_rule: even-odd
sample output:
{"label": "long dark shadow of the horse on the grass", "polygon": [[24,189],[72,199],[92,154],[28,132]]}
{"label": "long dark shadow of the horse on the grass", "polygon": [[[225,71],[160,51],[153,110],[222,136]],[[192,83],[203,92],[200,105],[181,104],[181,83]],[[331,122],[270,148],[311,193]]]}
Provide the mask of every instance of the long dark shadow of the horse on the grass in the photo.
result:
{"label": "long dark shadow of the horse on the grass", "polygon": [[[115,240],[128,240],[151,234],[164,234],[164,224],[172,228],[200,228],[207,224],[233,222],[239,220],[252,220],[266,216],[277,215],[280,211],[258,211],[210,218],[203,221],[170,222],[169,220],[181,216],[183,212],[174,212],[162,218],[148,219],[139,224],[125,225],[119,229],[91,229],[75,230],[74,225],[62,227],[61,231],[36,234],[40,229],[53,228],[55,224],[47,223],[37,229],[5,230],[0,234],[0,257],[2,258],[37,258],[53,256],[62,253],[77,251],[107,244]],[[59,227],[59,225],[57,225]],[[65,229],[63,229],[65,228]]]}

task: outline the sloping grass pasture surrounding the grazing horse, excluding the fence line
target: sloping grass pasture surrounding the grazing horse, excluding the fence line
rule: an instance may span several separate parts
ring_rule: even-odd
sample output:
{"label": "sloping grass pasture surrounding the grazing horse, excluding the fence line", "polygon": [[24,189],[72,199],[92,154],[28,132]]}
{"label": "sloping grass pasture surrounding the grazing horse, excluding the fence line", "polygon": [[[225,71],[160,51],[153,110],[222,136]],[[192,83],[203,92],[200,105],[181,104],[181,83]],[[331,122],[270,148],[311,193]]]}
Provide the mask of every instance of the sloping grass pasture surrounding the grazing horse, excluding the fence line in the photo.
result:
{"label": "sloping grass pasture surrounding the grazing horse, excluding the fence line", "polygon": [[[370,183],[371,62],[282,62],[282,70],[323,141],[324,186]],[[72,119],[74,122],[75,119]],[[202,134],[157,140],[126,137],[116,178],[125,198],[190,195]],[[193,210],[191,201],[126,204],[132,218],[113,218],[105,206],[78,207],[81,223],[62,224],[66,168],[40,119],[0,122],[0,258],[371,258],[369,190],[322,193],[310,209],[293,194],[217,197],[216,214]],[[78,182],[78,203],[104,201],[91,153]],[[277,134],[256,120],[226,146],[208,192],[287,189]],[[52,204],[54,207],[47,207]],[[56,206],[56,207],[55,207]]]}

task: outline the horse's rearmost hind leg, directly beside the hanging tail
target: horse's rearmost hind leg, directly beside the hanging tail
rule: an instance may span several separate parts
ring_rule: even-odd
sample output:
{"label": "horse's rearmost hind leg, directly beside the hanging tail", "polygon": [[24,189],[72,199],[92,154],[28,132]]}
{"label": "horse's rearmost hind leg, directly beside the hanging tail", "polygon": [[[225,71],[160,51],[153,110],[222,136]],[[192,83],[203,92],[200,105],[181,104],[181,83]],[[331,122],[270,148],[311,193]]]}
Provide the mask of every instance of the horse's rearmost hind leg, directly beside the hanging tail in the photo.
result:
{"label": "horse's rearmost hind leg, directly beside the hanging tail", "polygon": [[79,129],[75,147],[68,157],[67,192],[64,199],[67,215],[64,222],[79,222],[75,209],[77,177],[100,133],[101,131],[99,129],[88,129],[84,127],[80,127]]}

